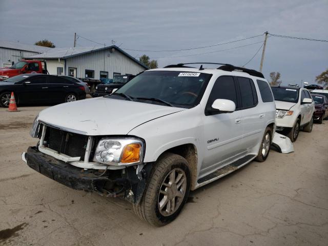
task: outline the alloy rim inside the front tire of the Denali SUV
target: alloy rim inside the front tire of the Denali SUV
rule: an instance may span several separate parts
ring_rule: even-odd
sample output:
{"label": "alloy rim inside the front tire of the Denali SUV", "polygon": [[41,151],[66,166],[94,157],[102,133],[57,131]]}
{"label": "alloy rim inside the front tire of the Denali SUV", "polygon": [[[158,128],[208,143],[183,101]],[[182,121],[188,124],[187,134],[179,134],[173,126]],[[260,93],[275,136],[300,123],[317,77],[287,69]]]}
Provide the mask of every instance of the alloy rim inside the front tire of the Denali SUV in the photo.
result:
{"label": "alloy rim inside the front tire of the Denali SUV", "polygon": [[180,169],[175,168],[165,177],[158,194],[158,210],[163,216],[170,216],[178,210],[186,195],[187,176]]}

